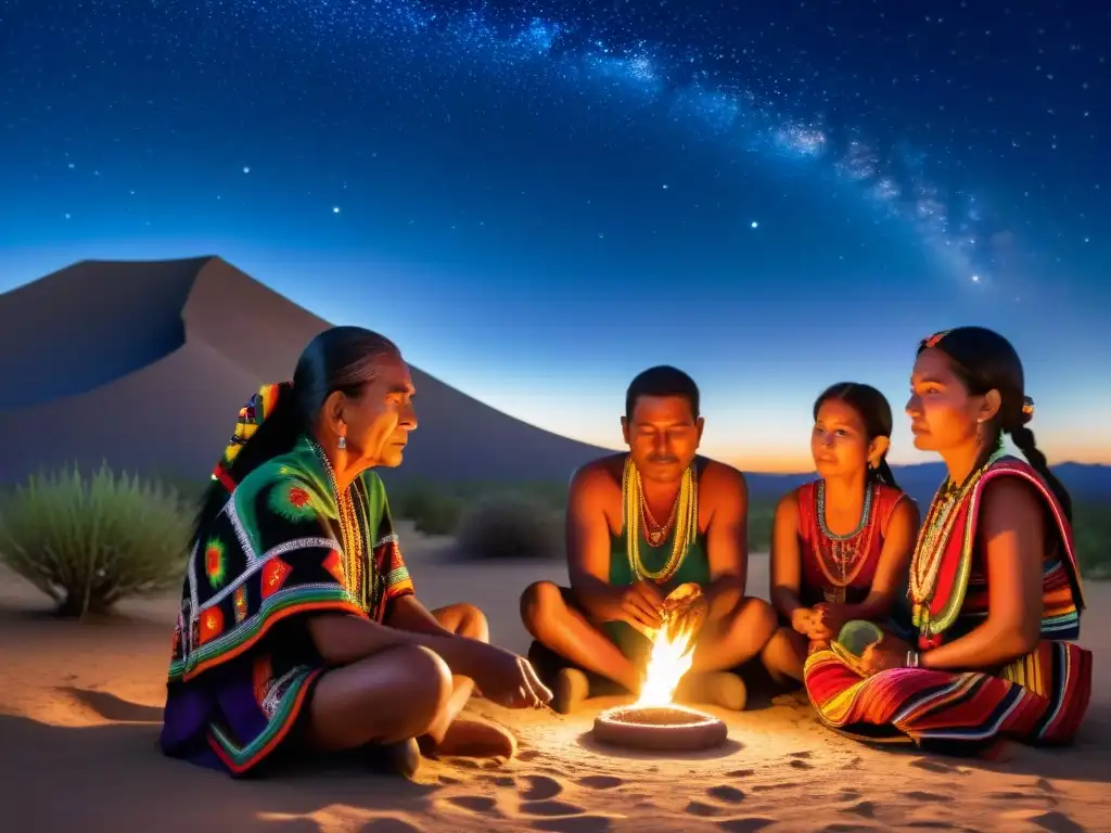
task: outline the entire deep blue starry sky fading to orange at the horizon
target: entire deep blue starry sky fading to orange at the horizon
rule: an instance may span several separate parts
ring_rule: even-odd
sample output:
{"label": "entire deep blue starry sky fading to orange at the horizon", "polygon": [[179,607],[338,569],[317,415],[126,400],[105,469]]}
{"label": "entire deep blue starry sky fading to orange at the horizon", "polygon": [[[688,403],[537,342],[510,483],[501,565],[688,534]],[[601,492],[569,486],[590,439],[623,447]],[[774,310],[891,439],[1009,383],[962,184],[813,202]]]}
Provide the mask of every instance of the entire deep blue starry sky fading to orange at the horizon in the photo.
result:
{"label": "entire deep blue starry sky fading to orange at the horizon", "polygon": [[980,323],[1051,461],[1111,462],[1107,8],[6,0],[0,290],[217,253],[578,439],[678,364],[749,469]]}

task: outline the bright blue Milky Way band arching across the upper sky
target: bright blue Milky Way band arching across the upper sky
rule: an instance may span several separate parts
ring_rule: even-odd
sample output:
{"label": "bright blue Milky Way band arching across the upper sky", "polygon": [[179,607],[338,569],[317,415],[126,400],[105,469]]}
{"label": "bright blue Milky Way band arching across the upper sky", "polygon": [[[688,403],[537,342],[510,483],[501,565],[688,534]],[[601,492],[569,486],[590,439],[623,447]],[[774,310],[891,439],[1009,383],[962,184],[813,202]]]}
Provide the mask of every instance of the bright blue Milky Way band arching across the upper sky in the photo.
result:
{"label": "bright blue Milky Way band arching across the upper sky", "polygon": [[[667,119],[699,138],[712,134],[725,147],[765,154],[783,165],[811,165],[818,175],[850,183],[877,210],[911,223],[954,274],[973,281],[990,275],[992,242],[1004,231],[987,222],[973,190],[944,194],[928,174],[930,160],[910,143],[880,147],[853,126],[832,127],[792,112],[802,104],[792,102],[782,92],[788,84],[780,83],[790,68],[762,62],[755,50],[731,48],[734,66],[722,72],[715,60],[721,54],[638,39],[620,21],[498,14],[486,4],[450,10],[397,0],[251,0],[233,8],[249,27],[276,27],[302,46],[377,39],[397,58],[426,52],[454,72],[478,62],[506,80],[514,69],[532,67],[562,83],[600,88],[619,109],[637,100],[658,102]],[[823,98],[835,96],[830,91]]]}

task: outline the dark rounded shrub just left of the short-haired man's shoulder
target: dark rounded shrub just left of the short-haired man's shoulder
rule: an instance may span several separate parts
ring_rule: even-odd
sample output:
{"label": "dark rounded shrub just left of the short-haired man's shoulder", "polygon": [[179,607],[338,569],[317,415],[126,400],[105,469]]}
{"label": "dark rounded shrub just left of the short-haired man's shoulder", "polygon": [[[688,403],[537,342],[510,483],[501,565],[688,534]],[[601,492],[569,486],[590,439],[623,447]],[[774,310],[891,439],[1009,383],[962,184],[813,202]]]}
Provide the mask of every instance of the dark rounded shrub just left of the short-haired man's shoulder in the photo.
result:
{"label": "dark rounded shrub just left of the short-haired man's shoulder", "polygon": [[563,515],[533,495],[489,495],[463,511],[456,546],[467,559],[563,558]]}

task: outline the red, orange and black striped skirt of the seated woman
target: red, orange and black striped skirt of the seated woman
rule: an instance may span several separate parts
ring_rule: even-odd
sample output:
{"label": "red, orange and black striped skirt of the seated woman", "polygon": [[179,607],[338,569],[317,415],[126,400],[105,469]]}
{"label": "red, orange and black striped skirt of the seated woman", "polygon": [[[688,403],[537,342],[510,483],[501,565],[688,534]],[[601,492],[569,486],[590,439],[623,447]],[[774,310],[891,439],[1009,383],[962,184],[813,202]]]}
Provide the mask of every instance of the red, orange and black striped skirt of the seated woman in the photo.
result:
{"label": "red, orange and black striped skirt of the seated woman", "polygon": [[803,676],[822,723],[841,734],[990,755],[1003,740],[1070,743],[1088,711],[1092,654],[1043,641],[998,674],[891,669],[862,676],[823,649],[807,659]]}

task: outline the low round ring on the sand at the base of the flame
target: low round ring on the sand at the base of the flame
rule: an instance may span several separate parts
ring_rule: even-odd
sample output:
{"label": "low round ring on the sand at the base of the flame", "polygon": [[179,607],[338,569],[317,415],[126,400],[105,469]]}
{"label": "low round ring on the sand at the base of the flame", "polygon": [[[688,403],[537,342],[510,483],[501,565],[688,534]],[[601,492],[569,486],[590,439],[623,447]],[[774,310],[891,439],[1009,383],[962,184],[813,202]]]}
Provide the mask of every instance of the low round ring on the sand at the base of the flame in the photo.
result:
{"label": "low round ring on the sand at the base of the flame", "polygon": [[618,706],[594,719],[594,740],[648,752],[693,752],[725,742],[729,726],[682,705]]}

